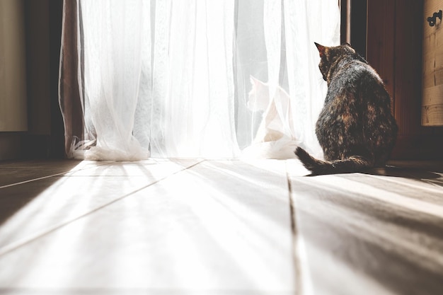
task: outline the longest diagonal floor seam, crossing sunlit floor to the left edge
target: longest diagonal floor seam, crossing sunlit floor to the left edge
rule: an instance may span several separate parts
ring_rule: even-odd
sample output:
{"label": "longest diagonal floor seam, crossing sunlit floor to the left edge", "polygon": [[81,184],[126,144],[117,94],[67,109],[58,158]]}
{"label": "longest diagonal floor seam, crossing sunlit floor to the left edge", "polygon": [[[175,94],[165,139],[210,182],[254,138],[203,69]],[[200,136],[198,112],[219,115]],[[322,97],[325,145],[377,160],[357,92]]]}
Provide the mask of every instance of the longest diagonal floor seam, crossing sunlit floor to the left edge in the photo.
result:
{"label": "longest diagonal floor seam, crossing sunlit floor to the left edge", "polygon": [[64,226],[67,226],[67,225],[69,225],[71,223],[74,223],[75,221],[78,221],[78,220],[80,220],[80,219],[82,219],[82,218],[84,218],[86,216],[89,216],[89,215],[91,215],[91,214],[93,214],[95,212],[98,212],[101,209],[110,206],[111,204],[114,204],[116,202],[121,201],[122,199],[130,197],[131,195],[134,195],[135,193],[140,192],[141,190],[144,190],[144,189],[146,189],[148,187],[151,187],[152,185],[156,185],[157,183],[160,183],[161,181],[166,180],[166,178],[169,178],[172,175],[176,175],[176,174],[181,173],[181,172],[183,172],[185,170],[189,170],[190,168],[193,168],[193,167],[197,166],[198,164],[203,163],[204,161],[205,160],[198,161],[197,163],[194,163],[194,164],[192,164],[190,166],[187,166],[187,167],[185,167],[183,169],[180,169],[180,170],[178,170],[178,171],[176,171],[174,173],[166,175],[165,177],[160,178],[159,180],[154,181],[154,183],[149,183],[149,185],[145,185],[144,187],[140,187],[137,190],[134,190],[132,192],[127,193],[126,195],[123,195],[122,197],[118,197],[117,199],[113,199],[112,201],[110,201],[110,202],[108,202],[106,204],[103,204],[103,205],[101,205],[101,206],[99,206],[99,207],[97,207],[95,209],[92,209],[92,210],[90,210],[90,211],[88,211],[88,212],[86,212],[84,214],[81,214],[80,216],[77,216],[74,219],[71,219],[69,221],[64,221],[62,224],[59,224],[57,226],[53,226],[52,228],[47,229],[46,231],[43,231],[42,233],[38,233],[35,236],[32,236],[30,238],[27,238],[24,241],[17,241],[16,243],[12,243],[12,244],[4,247],[4,248],[0,248],[0,257],[2,255],[6,255],[8,253],[13,252],[14,250],[17,250],[18,248],[21,248],[24,245],[27,245],[28,243],[32,243],[33,241],[36,241],[39,238],[42,238],[43,236],[47,236],[48,234],[53,233],[54,231],[57,231],[58,229],[62,229]]}

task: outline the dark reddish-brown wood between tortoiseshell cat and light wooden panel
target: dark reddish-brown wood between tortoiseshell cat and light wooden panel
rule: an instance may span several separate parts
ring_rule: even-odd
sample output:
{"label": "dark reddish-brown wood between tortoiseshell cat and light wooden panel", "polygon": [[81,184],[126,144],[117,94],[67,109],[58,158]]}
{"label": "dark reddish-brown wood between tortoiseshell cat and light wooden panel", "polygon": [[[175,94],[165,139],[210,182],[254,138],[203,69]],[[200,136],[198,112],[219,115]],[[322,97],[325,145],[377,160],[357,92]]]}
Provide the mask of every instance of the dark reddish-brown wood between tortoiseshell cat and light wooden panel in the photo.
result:
{"label": "dark reddish-brown wood between tortoiseshell cat and light wooden panel", "polygon": [[393,98],[399,132],[392,158],[397,159],[443,157],[443,129],[421,124],[422,34],[427,24],[423,4],[422,0],[368,1],[367,60]]}

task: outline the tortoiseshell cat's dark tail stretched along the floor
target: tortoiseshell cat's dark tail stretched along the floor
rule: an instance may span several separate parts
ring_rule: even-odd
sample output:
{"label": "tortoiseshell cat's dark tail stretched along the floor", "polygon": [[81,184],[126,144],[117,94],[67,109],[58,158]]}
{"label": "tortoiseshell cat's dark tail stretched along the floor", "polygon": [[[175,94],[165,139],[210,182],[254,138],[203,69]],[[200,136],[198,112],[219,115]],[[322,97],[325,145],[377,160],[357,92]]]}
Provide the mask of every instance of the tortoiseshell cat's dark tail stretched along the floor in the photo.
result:
{"label": "tortoiseshell cat's dark tail stretched along the floor", "polygon": [[299,157],[303,166],[311,171],[312,175],[359,172],[374,166],[374,161],[364,156],[350,156],[343,160],[321,161],[313,158],[301,147],[297,147],[295,154]]}

